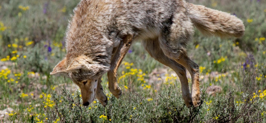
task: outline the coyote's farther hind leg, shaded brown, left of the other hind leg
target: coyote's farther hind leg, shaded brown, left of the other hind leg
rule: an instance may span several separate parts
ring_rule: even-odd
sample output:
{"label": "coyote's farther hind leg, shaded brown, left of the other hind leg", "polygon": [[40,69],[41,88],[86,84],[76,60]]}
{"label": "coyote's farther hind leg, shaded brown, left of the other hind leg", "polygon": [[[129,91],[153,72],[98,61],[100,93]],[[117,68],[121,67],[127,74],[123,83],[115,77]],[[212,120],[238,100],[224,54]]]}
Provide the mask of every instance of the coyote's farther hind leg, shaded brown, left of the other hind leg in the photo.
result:
{"label": "coyote's farther hind leg, shaded brown, left of the other hind leg", "polygon": [[192,98],[189,92],[188,79],[186,78],[186,69],[173,59],[170,59],[163,54],[163,51],[159,46],[158,39],[143,41],[143,45],[150,56],[176,72],[181,82],[182,97],[185,101],[185,104],[187,107],[192,107]]}

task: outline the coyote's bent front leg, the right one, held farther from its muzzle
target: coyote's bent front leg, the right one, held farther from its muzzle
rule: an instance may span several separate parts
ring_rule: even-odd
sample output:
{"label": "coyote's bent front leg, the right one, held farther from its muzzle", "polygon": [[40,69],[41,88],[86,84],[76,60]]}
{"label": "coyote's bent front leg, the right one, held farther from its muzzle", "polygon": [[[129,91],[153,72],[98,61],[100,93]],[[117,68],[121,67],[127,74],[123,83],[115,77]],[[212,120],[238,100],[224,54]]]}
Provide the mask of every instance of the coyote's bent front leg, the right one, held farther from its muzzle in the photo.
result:
{"label": "coyote's bent front leg, the right one, held farther from its muzzle", "polygon": [[123,60],[124,56],[126,55],[127,51],[129,50],[130,44],[132,42],[133,35],[128,35],[125,38],[123,38],[123,41],[121,41],[118,49],[116,50],[116,53],[113,55],[113,58],[111,60],[111,67],[110,71],[108,71],[108,85],[110,92],[116,97],[119,98],[122,95],[121,88],[119,87],[116,79],[116,72],[121,64],[121,61]]}

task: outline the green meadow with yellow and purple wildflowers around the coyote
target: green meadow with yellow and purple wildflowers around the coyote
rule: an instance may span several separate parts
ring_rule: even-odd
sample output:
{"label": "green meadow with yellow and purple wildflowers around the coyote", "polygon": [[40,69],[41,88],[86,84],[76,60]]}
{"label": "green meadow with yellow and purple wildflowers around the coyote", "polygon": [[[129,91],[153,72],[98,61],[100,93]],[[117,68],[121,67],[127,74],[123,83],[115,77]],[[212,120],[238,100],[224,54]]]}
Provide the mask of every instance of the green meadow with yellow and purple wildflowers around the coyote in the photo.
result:
{"label": "green meadow with yellow and purple wildflowers around the coyote", "polygon": [[66,53],[64,34],[79,0],[1,0],[0,122],[266,122],[266,1],[188,1],[231,13],[246,29],[239,39],[206,37],[195,29],[187,49],[200,66],[197,108],[185,106],[177,75],[151,58],[141,41],[119,68],[122,97],[109,92],[104,75],[107,106],[97,99],[83,106],[69,78],[49,75]]}

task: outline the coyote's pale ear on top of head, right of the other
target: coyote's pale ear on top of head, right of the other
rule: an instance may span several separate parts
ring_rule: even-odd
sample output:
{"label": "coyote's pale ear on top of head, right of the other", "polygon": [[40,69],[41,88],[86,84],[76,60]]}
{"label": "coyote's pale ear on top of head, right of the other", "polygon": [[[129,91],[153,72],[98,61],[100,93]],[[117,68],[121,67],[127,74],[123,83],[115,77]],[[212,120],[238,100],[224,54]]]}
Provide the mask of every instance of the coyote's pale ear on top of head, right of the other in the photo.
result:
{"label": "coyote's pale ear on top of head, right of the other", "polygon": [[79,72],[79,69],[87,69],[87,59],[86,56],[79,56],[69,64],[66,71],[67,72]]}

